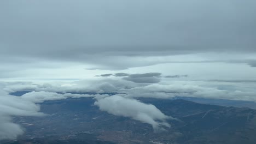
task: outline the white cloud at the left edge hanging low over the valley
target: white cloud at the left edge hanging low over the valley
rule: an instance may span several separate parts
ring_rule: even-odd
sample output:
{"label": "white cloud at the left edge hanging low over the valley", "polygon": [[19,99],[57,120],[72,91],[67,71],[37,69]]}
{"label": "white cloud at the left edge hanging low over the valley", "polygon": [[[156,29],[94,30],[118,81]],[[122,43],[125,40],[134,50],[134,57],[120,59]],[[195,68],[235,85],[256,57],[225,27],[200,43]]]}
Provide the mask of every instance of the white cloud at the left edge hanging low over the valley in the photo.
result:
{"label": "white cloud at the left edge hanging low over the valley", "polygon": [[16,139],[24,133],[20,125],[12,122],[13,116],[44,116],[40,107],[31,101],[14,97],[0,89],[0,140]]}

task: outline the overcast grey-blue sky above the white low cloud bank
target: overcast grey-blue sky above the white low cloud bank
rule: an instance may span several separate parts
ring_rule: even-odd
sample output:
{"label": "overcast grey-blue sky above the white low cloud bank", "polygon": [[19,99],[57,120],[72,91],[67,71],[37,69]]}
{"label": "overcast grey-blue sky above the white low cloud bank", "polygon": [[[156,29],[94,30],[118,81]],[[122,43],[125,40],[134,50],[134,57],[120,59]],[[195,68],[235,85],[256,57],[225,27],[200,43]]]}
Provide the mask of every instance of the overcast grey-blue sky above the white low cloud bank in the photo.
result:
{"label": "overcast grey-blue sky above the white low cloud bank", "polygon": [[0,78],[150,71],[256,79],[254,5],[253,0],[1,1]]}

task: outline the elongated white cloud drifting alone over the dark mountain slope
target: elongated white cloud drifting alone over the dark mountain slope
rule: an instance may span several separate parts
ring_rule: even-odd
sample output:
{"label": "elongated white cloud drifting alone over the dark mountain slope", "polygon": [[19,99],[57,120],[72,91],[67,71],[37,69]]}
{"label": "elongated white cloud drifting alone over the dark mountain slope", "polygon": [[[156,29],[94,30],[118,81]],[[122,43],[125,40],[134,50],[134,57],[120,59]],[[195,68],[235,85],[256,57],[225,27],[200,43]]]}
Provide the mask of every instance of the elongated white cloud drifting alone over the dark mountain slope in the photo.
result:
{"label": "elongated white cloud drifting alone over the dark mountain slope", "polygon": [[120,95],[112,95],[110,97],[96,97],[95,105],[100,107],[100,110],[107,111],[116,116],[130,117],[143,123],[152,125],[155,131],[170,128],[167,119],[173,119],[166,116],[154,105],[144,104],[138,100],[124,98]]}

